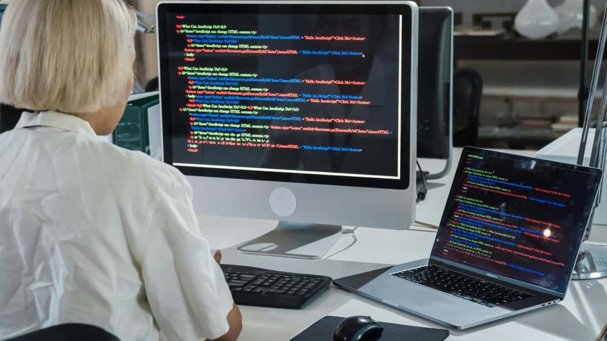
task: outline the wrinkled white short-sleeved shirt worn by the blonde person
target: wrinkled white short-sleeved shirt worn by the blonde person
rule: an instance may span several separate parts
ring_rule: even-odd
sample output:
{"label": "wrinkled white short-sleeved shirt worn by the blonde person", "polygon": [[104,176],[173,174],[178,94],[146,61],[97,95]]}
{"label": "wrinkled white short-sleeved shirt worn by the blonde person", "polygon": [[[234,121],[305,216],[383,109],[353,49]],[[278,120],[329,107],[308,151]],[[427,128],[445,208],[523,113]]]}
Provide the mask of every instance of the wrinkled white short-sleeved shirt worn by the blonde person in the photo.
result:
{"label": "wrinkled white short-sleeved shirt worn by the blonde person", "polygon": [[89,323],[123,341],[215,339],[232,297],[174,167],[24,113],[0,135],[0,339]]}

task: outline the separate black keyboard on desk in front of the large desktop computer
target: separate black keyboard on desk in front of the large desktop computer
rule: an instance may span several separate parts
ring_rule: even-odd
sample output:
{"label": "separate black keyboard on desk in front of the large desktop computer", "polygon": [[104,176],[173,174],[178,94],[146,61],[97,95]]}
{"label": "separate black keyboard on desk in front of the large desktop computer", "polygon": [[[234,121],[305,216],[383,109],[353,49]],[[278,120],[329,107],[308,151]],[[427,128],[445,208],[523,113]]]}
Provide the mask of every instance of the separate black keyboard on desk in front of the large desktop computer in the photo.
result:
{"label": "separate black keyboard on desk in front of the large desktop computer", "polygon": [[299,309],[325,291],[333,279],[241,265],[221,265],[237,305]]}

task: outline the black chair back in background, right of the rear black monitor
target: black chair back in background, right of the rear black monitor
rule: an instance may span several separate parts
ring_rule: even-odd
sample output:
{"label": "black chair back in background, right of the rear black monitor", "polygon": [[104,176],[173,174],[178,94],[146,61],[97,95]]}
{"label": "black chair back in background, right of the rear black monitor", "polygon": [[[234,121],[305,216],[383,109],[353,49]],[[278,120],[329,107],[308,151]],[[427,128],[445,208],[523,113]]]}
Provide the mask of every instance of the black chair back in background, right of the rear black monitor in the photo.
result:
{"label": "black chair back in background, right of the rear black monitor", "polygon": [[483,79],[467,67],[453,71],[453,146],[478,146]]}

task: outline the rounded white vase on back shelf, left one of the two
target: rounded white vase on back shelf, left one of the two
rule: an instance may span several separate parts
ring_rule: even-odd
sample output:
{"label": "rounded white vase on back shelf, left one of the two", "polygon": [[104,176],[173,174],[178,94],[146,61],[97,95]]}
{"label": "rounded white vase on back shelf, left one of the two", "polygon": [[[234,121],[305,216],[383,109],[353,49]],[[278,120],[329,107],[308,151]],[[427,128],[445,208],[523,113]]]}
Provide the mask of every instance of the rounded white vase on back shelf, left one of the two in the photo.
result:
{"label": "rounded white vase on back shelf, left one of the two", "polygon": [[546,38],[557,32],[558,15],[546,0],[528,0],[514,19],[514,28],[527,38]]}

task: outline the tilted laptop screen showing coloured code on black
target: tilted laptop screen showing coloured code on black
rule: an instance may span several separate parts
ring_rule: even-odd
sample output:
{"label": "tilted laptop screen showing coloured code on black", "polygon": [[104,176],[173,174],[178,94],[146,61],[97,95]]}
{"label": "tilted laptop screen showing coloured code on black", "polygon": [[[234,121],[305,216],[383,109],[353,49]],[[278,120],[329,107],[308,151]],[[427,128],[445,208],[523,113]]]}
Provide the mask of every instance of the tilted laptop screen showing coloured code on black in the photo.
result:
{"label": "tilted laptop screen showing coloured code on black", "polygon": [[466,147],[432,256],[564,294],[601,178]]}

